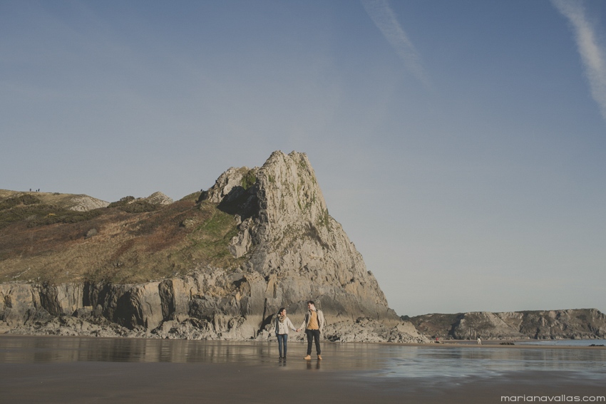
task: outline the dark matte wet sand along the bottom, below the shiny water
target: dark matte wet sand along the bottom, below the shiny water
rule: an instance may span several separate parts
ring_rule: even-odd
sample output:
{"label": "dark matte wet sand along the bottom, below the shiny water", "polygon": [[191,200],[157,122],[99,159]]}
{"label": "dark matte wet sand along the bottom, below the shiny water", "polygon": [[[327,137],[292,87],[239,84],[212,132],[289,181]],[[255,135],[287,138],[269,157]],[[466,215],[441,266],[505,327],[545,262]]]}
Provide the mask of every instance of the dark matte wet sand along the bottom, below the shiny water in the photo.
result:
{"label": "dark matte wet sand along the bottom, below the shiny water", "polygon": [[[326,360],[329,360],[328,358]],[[500,396],[605,395],[572,373],[517,372],[448,383],[370,379],[347,372],[284,372],[205,363],[0,364],[2,403],[500,403]],[[307,366],[307,365],[306,365]]]}

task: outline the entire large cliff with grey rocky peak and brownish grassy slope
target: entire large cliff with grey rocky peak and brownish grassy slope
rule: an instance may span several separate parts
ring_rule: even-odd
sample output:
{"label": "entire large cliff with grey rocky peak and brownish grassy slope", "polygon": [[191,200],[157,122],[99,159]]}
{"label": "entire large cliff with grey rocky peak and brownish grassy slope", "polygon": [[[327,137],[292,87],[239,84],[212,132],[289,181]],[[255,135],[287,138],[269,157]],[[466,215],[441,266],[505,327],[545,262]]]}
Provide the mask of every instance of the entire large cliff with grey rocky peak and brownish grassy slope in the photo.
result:
{"label": "entire large cliff with grey rocky peak and brownish grassy slope", "polygon": [[0,276],[31,280],[0,284],[0,331],[269,338],[279,307],[297,323],[312,299],[334,341],[426,341],[389,309],[303,153],[230,168],[178,202],[160,196],[77,222],[46,211],[19,222],[24,203],[7,205]]}

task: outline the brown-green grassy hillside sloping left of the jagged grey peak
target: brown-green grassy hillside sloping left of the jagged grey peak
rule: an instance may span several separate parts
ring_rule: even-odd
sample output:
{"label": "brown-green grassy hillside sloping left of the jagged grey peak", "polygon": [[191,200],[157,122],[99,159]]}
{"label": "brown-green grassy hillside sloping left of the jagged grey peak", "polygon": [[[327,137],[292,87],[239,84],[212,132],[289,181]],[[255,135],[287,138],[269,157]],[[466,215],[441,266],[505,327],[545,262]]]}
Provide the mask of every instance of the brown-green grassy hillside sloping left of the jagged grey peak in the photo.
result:
{"label": "brown-green grassy hillside sloping left of the jagged grey peak", "polygon": [[125,197],[76,212],[74,195],[0,192],[0,282],[133,283],[239,266],[227,249],[235,218],[198,196],[168,205]]}

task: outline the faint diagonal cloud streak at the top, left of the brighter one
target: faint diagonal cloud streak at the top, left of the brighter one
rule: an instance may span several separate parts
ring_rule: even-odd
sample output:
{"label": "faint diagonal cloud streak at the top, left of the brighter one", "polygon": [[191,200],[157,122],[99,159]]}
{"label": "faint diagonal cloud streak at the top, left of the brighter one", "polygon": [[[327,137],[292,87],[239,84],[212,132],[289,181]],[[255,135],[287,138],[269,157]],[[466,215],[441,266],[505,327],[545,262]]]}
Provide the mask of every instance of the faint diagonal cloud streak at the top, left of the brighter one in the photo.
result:
{"label": "faint diagonal cloud streak at the top, left of the brighter one", "polygon": [[396,14],[394,14],[387,0],[361,0],[361,3],[366,10],[366,14],[370,16],[386,40],[398,53],[398,56],[404,61],[406,68],[419,81],[428,86],[429,80],[423,69],[421,57],[404,29],[400,26]]}

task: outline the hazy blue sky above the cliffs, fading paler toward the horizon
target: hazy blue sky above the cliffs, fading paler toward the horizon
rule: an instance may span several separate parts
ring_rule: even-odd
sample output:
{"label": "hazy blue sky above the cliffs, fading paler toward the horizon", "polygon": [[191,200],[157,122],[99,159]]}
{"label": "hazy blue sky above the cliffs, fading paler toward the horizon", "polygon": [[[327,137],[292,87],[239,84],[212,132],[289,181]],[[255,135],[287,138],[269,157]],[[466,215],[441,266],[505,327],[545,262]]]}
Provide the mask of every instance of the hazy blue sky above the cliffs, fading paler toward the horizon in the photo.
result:
{"label": "hazy blue sky above the cliffs, fading paler toward the horizon", "polygon": [[0,188],[306,152],[399,315],[606,311],[606,1],[0,0]]}

